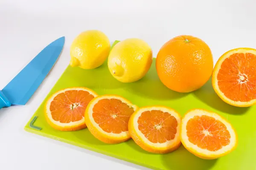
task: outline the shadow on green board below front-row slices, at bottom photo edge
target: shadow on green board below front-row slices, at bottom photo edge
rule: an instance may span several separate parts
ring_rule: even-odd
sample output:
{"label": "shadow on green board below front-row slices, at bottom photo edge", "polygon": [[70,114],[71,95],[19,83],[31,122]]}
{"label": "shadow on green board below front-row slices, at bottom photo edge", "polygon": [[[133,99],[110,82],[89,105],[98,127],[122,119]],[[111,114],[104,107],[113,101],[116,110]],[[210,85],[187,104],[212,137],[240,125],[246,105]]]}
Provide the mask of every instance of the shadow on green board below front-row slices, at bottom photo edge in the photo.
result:
{"label": "shadow on green board below front-row slices, at bottom photo edge", "polygon": [[172,153],[163,154],[163,164],[169,170],[209,170],[218,159],[198,158],[181,145]]}

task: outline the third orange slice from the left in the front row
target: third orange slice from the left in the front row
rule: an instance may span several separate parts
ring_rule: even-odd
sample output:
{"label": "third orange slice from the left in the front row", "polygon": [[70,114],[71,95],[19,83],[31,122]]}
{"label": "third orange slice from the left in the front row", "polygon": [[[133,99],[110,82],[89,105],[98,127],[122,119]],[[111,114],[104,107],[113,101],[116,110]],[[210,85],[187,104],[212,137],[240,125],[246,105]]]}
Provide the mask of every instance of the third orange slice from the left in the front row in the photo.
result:
{"label": "third orange slice from the left in the front row", "polygon": [[148,106],[139,108],[129,120],[131,138],[151,153],[169,153],[180,142],[181,116],[171,108]]}

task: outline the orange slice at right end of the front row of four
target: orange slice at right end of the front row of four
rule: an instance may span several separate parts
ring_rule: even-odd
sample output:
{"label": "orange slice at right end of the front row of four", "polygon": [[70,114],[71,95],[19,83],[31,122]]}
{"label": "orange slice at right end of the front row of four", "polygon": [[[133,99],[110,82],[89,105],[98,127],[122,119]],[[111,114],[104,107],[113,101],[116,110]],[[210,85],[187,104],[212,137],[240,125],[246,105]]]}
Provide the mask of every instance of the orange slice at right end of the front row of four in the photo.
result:
{"label": "orange slice at right end of the front row of four", "polygon": [[182,119],[183,146],[202,159],[227,155],[237,146],[236,131],[226,119],[210,111],[193,109]]}

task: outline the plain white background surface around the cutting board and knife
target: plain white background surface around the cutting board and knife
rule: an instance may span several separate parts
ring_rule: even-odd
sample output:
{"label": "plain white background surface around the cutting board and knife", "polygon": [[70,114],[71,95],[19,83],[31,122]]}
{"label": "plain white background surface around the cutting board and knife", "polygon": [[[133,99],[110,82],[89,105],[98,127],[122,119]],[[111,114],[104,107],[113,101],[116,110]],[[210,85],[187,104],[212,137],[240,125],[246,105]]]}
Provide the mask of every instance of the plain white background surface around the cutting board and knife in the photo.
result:
{"label": "plain white background surface around the cutting board and knife", "polygon": [[216,62],[232,48],[256,48],[255,9],[255,0],[0,0],[0,89],[46,45],[66,37],[29,102],[0,110],[0,169],[146,169],[23,130],[69,64],[73,39],[88,29],[112,42],[137,37],[155,57],[164,42],[190,34],[209,45]]}

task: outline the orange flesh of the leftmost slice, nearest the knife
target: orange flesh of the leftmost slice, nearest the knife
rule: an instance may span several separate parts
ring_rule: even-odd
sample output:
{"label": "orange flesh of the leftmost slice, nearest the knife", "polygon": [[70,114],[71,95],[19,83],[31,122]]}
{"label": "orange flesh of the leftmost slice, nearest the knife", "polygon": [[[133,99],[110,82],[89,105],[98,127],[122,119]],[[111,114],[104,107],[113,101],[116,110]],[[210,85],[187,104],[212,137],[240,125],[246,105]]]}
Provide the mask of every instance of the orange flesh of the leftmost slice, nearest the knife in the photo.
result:
{"label": "orange flesh of the leftmost slice, nearest the knife", "polygon": [[58,94],[50,104],[52,119],[61,123],[81,120],[94,96],[87,91],[69,90]]}

